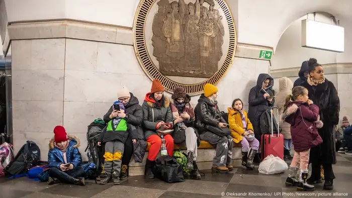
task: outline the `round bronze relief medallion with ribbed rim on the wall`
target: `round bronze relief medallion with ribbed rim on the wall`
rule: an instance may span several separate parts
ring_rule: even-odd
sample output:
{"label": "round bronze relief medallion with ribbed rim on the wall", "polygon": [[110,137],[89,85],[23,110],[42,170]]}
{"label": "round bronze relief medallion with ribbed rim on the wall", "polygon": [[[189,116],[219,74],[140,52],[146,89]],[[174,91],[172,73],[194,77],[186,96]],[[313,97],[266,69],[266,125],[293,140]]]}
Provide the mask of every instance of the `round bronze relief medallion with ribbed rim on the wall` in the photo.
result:
{"label": "round bronze relief medallion with ribbed rim on the wall", "polygon": [[236,28],[225,0],[141,0],[133,46],[146,75],[190,95],[217,84],[232,64]]}

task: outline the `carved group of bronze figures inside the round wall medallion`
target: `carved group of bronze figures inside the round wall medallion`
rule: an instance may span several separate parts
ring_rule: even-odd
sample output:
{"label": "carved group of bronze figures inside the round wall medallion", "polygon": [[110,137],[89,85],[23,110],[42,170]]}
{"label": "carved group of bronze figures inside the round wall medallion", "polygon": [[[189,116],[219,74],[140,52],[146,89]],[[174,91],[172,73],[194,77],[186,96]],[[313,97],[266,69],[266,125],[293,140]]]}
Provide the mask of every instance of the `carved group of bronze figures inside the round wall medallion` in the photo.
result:
{"label": "carved group of bronze figures inside the round wall medallion", "polygon": [[[188,1],[189,2],[189,1]],[[207,4],[205,4],[207,3]],[[224,43],[213,0],[160,0],[153,19],[153,55],[164,75],[208,78],[218,70]]]}

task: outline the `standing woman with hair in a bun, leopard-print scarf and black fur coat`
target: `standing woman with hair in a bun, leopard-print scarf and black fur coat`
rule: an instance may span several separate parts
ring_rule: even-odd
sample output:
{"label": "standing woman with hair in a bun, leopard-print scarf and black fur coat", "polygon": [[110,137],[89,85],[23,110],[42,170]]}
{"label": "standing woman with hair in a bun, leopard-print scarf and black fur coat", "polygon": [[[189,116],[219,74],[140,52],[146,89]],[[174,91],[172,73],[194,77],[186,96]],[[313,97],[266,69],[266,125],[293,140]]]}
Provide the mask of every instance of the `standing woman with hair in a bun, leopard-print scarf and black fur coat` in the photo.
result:
{"label": "standing woman with hair in a bun, leopard-print scarf and black fur coat", "polygon": [[324,167],[324,189],[332,189],[332,180],[335,175],[332,164],[336,163],[335,138],[333,134],[334,125],[338,124],[340,112],[340,101],[334,84],[324,77],[324,70],[315,58],[308,61],[309,76],[301,86],[308,89],[309,99],[319,107],[320,120],[324,123],[318,129],[323,143],[310,150],[309,162],[312,163],[312,175],[308,183],[320,183],[320,165]]}

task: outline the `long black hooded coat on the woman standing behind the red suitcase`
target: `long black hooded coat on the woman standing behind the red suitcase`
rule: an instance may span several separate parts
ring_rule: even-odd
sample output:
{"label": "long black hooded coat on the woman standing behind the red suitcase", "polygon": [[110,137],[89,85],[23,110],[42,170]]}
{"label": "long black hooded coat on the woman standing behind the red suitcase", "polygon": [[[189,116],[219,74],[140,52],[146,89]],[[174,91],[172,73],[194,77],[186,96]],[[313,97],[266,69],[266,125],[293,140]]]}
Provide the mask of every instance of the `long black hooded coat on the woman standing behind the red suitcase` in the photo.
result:
{"label": "long black hooded coat on the woman standing behind the red suitcase", "polygon": [[[258,79],[256,81],[256,86],[252,87],[249,91],[249,96],[248,96],[248,119],[252,123],[253,127],[258,127],[260,126],[259,120],[260,120],[260,115],[270,109],[273,103],[270,103],[268,100],[264,98],[264,94],[266,93],[264,90],[262,90],[262,83],[266,79],[270,79],[270,84],[266,88],[266,91],[272,95],[272,92],[270,91],[270,87],[274,85],[274,79],[267,73],[261,73],[258,76]],[[274,102],[274,101],[273,101]],[[254,129],[254,133],[255,129]],[[258,132],[260,133],[260,132]]]}

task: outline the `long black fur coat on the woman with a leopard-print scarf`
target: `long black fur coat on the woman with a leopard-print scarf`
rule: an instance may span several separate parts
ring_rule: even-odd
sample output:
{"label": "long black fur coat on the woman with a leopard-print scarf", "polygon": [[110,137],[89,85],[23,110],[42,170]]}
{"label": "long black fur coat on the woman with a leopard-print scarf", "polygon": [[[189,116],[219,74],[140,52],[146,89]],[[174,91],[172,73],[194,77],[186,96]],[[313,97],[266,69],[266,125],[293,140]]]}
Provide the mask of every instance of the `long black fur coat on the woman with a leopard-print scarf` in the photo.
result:
{"label": "long black fur coat on the woman with a leopard-print scarf", "polygon": [[325,79],[325,82],[316,86],[311,86],[307,81],[301,86],[308,89],[308,97],[319,107],[320,120],[324,123],[318,129],[323,143],[310,149],[310,163],[336,163],[335,137],[333,133],[334,125],[338,124],[340,112],[340,100],[334,84]]}

